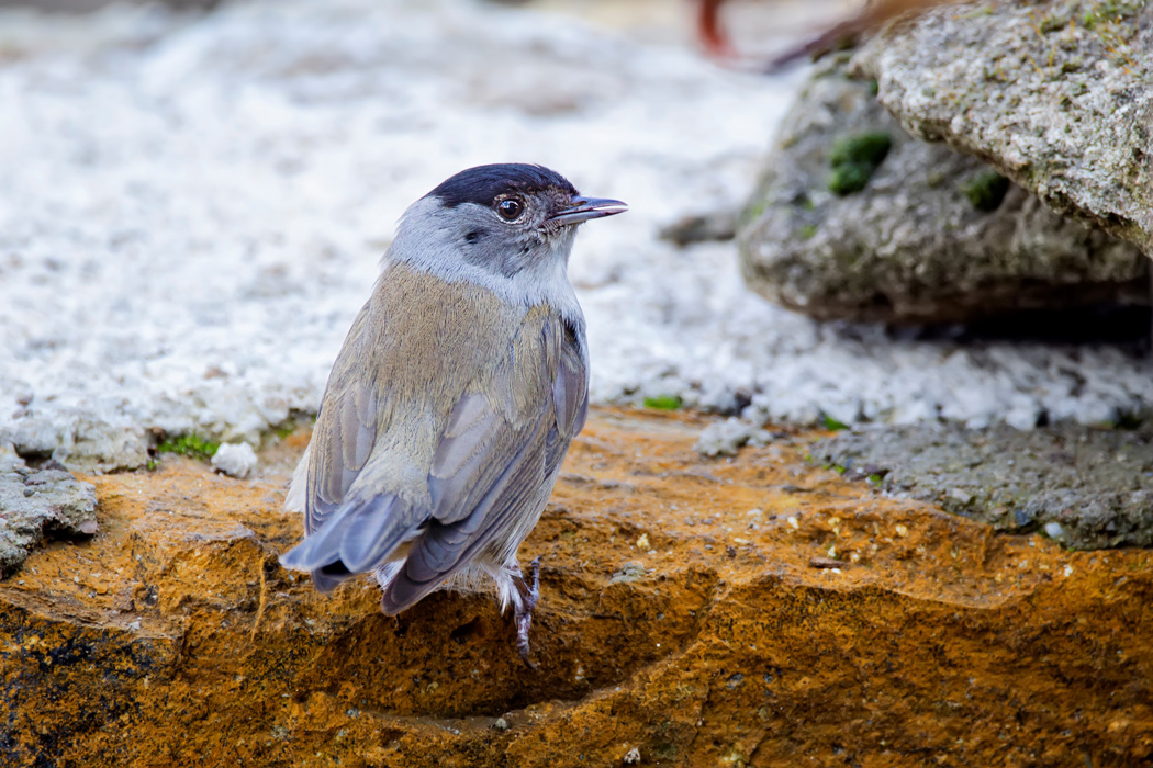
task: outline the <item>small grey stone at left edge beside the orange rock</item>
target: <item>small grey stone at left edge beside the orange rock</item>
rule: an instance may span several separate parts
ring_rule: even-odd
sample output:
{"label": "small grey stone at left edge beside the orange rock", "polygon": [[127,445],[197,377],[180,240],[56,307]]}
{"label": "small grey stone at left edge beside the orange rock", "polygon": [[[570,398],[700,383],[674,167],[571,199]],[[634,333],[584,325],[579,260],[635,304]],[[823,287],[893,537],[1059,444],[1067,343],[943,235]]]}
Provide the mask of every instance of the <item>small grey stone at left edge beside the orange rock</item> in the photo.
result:
{"label": "small grey stone at left edge beside the orange rock", "polygon": [[45,539],[97,531],[96,488],[61,470],[33,470],[0,443],[0,578]]}

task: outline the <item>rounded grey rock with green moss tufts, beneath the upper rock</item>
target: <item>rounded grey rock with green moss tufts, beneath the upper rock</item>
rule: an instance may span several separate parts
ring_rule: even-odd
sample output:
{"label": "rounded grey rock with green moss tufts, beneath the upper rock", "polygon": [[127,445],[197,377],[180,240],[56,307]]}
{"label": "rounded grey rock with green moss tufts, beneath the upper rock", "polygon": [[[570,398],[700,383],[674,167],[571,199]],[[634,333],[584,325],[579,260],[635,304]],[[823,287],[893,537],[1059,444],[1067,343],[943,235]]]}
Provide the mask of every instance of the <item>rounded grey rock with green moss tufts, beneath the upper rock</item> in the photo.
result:
{"label": "rounded grey rock with green moss tufts, beneath the upper rock", "polygon": [[751,288],[820,320],[896,324],[1148,301],[1136,246],[914,139],[846,70],[820,64],[781,126],[740,229]]}

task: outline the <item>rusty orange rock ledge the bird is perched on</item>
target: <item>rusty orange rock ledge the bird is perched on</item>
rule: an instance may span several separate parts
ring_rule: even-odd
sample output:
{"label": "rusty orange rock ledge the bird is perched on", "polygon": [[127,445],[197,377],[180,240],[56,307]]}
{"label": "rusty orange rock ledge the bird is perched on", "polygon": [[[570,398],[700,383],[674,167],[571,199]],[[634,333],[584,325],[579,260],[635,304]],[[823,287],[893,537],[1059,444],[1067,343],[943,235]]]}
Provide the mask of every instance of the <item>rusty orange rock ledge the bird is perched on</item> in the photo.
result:
{"label": "rusty orange rock ledge the bird is perched on", "polygon": [[594,411],[522,552],[544,564],[533,670],[487,596],[437,594],[390,619],[367,579],[331,595],[294,580],[276,561],[300,530],[278,477],[174,458],[96,478],[100,534],[0,583],[0,762],[1153,754],[1153,555],[990,535],[876,499],[791,441],[702,461],[703,425]]}

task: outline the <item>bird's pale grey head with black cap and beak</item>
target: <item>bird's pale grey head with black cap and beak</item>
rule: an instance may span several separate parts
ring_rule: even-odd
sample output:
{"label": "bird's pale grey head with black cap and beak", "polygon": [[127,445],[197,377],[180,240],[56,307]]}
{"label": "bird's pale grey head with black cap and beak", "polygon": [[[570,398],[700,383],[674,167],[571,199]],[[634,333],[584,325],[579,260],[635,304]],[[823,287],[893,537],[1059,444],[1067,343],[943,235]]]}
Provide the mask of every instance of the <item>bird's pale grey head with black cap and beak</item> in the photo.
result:
{"label": "bird's pale grey head with black cap and beak", "polygon": [[417,200],[405,213],[393,250],[443,276],[549,280],[558,269],[563,275],[576,225],[627,207],[583,197],[543,166],[477,166]]}

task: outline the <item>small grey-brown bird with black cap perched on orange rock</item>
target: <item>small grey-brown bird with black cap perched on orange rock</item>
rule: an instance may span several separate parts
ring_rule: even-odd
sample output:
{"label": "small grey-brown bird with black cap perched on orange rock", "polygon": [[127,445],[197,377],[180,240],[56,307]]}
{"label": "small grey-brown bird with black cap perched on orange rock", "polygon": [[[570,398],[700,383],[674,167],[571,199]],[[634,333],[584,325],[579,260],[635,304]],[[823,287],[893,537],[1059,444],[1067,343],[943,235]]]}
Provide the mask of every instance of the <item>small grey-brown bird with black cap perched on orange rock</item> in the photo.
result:
{"label": "small grey-brown bird with black cap perched on orange rock", "polygon": [[627,210],[560,174],[462,170],[414,203],[329,375],[286,508],[280,557],[322,592],[372,571],[395,615],[496,581],[517,647],[540,595],[517,550],[588,413],[585,315],[566,267],[576,225]]}

